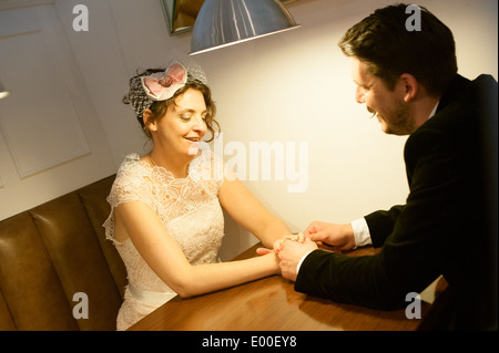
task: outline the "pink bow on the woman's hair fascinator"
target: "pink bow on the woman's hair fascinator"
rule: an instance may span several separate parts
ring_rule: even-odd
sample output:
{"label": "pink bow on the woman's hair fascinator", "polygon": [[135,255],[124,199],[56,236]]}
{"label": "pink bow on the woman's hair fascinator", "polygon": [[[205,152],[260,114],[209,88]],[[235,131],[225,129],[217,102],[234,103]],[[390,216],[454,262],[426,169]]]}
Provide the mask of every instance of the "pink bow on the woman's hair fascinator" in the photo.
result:
{"label": "pink bow on the woman's hair fascinator", "polygon": [[187,71],[180,63],[171,64],[166,71],[141,77],[145,94],[153,101],[166,101],[187,82]]}

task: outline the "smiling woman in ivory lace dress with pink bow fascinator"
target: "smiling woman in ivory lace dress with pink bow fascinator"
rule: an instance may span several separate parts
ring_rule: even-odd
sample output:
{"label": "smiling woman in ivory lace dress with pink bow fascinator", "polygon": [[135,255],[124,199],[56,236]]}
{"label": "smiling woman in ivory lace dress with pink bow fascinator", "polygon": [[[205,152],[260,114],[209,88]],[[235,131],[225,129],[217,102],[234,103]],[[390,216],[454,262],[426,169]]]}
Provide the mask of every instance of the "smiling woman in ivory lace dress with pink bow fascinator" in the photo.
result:
{"label": "smiling woman in ivory lace dress with pink bow fascinator", "polygon": [[126,156],[108,198],[106,237],[129,279],[116,329],[126,330],[177,294],[189,298],[278,273],[274,252],[216,261],[222,209],[267,248],[291,231],[221,159],[200,148],[218,126],[204,72],[179,62],[146,70],[130,80],[123,102],[135,110],[153,147],[142,157]]}

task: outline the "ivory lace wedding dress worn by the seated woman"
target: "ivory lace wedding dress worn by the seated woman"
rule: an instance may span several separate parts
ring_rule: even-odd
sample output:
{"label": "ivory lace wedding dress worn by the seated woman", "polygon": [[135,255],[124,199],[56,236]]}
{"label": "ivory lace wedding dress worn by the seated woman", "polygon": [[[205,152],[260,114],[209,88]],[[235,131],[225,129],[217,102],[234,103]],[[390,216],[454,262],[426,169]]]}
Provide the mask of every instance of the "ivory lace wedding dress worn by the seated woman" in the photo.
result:
{"label": "ivory lace wedding dress worn by the seated woman", "polygon": [[222,160],[210,150],[200,150],[189,167],[186,178],[175,179],[162,167],[141,162],[138,154],[126,156],[108,197],[111,214],[104,222],[126,267],[129,284],[116,319],[116,329],[126,330],[176,293],[147,266],[129,239],[114,238],[116,206],[141,201],[160,217],[191,264],[216,262],[224,236],[224,218],[217,194],[222,185]]}

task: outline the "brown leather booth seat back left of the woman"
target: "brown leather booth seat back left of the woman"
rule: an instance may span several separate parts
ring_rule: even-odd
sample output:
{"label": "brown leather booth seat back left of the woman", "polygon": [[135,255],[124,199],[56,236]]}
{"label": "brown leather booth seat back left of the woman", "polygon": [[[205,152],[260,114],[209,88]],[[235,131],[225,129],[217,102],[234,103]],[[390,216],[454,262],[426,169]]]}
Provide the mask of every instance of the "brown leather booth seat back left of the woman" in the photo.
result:
{"label": "brown leather booth seat back left of the woman", "polygon": [[102,227],[113,180],[0,221],[0,330],[116,329],[126,270]]}

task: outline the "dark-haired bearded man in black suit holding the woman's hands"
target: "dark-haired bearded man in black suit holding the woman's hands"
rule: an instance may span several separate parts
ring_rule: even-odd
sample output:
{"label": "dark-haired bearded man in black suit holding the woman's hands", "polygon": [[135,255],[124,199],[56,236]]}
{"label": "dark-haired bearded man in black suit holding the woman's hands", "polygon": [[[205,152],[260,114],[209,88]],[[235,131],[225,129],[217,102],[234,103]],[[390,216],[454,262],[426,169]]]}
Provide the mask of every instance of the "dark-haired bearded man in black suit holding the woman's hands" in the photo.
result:
{"label": "dark-haired bearded man in black suit holding the woman's hands", "polygon": [[[406,204],[347,225],[312,222],[309,240],[282,245],[282,274],[296,291],[380,310],[406,308],[408,293],[444,274],[446,329],[497,329],[497,82],[460,76],[450,30],[424,8],[420,31],[410,30],[406,8],[375,11],[339,42],[356,101],[383,132],[409,135]],[[315,241],[383,250],[354,258]]]}

